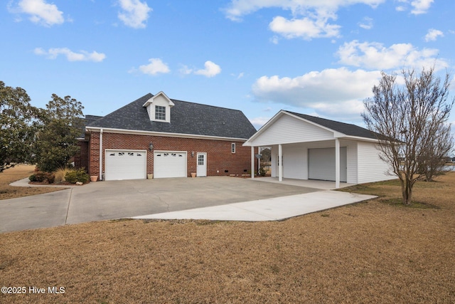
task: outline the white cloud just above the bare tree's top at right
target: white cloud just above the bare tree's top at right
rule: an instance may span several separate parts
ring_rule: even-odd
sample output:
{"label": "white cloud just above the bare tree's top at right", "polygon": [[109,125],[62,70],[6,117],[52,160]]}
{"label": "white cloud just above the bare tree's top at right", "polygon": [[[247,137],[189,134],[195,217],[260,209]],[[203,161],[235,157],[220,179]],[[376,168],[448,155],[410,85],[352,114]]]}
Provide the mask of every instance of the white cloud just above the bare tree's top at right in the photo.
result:
{"label": "white cloud just above the bare tree's top at right", "polygon": [[412,46],[411,43],[397,43],[385,47],[382,43],[363,42],[357,40],[346,42],[338,48],[336,55],[339,63],[361,68],[390,70],[400,69],[405,66],[432,66],[439,70],[448,66],[444,59],[438,59],[439,51],[434,48],[422,50]]}

